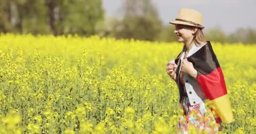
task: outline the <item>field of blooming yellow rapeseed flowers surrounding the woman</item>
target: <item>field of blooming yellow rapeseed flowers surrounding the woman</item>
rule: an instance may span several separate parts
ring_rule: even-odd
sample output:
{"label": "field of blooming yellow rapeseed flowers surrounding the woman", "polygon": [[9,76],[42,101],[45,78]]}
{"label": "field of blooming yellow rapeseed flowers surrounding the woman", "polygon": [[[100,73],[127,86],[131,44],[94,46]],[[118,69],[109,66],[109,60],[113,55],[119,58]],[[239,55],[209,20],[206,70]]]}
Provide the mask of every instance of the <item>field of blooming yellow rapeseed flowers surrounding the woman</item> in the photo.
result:
{"label": "field of blooming yellow rapeseed flowers surrounding the woman", "polygon": [[[256,45],[212,45],[235,118],[221,133],[253,134]],[[165,66],[181,48],[98,36],[1,34],[0,134],[175,134],[179,91]]]}

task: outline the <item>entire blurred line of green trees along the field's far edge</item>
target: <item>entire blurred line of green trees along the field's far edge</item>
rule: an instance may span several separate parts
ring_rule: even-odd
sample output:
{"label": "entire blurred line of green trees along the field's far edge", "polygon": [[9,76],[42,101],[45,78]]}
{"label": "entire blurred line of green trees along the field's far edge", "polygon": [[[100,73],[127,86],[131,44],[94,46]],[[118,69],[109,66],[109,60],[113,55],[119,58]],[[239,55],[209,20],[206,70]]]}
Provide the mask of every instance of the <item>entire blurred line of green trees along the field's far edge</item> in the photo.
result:
{"label": "entire blurred line of green trees along the field's far edge", "polygon": [[[106,18],[101,0],[0,0],[0,32],[177,41],[174,26],[160,20],[152,0],[124,0],[120,8],[121,18]],[[206,31],[205,38],[256,44],[256,30],[238,28],[226,34],[216,27]]]}

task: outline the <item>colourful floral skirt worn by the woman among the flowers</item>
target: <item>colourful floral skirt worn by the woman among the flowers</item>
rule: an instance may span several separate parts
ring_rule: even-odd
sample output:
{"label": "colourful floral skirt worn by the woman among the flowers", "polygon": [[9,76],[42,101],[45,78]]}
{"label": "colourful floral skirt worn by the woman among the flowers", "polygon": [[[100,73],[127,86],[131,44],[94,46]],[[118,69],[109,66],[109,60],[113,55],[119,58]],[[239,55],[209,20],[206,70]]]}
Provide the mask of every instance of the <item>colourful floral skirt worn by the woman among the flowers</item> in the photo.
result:
{"label": "colourful floral skirt worn by the woman among the flowers", "polygon": [[205,103],[190,106],[189,98],[181,99],[181,108],[184,115],[178,123],[178,134],[218,134],[221,130],[221,120],[214,115]]}

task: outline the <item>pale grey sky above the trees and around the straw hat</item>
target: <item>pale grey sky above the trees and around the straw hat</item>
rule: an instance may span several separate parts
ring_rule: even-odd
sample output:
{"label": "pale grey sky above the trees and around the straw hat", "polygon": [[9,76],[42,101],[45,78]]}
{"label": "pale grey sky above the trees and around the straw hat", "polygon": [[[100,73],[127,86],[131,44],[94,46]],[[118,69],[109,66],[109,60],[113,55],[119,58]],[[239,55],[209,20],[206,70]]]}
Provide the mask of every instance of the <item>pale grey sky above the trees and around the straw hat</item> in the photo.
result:
{"label": "pale grey sky above the trees and around the straw hat", "polygon": [[[103,0],[106,17],[121,15],[124,0]],[[205,30],[221,27],[225,33],[237,28],[256,29],[256,0],[152,0],[164,24],[176,18],[180,8],[198,10],[203,14]]]}

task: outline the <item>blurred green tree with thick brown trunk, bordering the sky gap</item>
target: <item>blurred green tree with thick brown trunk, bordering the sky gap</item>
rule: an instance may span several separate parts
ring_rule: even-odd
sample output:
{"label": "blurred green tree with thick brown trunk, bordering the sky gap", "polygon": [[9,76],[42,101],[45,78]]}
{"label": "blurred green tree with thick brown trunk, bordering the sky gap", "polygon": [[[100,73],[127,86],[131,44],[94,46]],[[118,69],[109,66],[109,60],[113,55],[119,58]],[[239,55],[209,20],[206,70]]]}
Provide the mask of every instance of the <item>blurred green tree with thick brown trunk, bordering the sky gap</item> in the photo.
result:
{"label": "blurred green tree with thick brown trunk, bordering the sky gap", "polygon": [[96,34],[96,25],[103,20],[101,0],[48,0],[49,25],[59,34]]}

